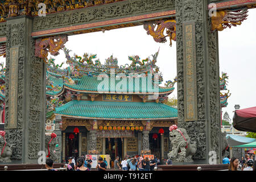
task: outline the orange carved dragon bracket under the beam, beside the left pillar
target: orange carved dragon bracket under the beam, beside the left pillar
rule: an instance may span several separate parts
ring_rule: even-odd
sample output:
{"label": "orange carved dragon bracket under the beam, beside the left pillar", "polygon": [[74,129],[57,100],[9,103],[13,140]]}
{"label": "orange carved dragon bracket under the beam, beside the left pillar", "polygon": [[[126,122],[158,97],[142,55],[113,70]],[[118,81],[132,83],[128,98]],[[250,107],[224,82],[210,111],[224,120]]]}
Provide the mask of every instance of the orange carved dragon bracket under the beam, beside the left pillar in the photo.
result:
{"label": "orange carved dragon bracket under the beam, beside the left pillar", "polygon": [[43,39],[36,39],[35,56],[44,60],[48,64],[48,52],[53,56],[59,55],[59,50],[64,48],[64,44],[68,41],[67,35],[49,36]]}

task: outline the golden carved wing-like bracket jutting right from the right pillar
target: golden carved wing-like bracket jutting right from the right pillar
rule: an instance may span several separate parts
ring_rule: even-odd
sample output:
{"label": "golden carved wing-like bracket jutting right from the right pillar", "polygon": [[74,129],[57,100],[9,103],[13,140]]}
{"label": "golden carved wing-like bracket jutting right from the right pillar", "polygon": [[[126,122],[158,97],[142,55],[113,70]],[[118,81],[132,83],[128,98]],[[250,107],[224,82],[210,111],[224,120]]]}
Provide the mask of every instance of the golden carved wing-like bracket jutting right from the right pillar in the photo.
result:
{"label": "golden carved wing-like bracket jutting right from the right pillar", "polygon": [[236,10],[217,11],[216,16],[212,15],[212,31],[222,31],[225,28],[241,25],[246,20],[248,10],[247,7]]}

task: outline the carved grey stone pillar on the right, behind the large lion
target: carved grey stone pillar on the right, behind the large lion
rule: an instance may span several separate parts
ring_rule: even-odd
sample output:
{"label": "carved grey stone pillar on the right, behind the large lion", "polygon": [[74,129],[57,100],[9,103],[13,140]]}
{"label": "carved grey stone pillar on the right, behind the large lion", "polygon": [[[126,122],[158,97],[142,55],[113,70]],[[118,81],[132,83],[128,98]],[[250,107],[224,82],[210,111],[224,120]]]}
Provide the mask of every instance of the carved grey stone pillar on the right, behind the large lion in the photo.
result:
{"label": "carved grey stone pillar on the right, behind the large lion", "polygon": [[218,32],[210,31],[207,5],[176,0],[178,125],[197,143],[193,159],[204,164],[209,151],[221,161]]}

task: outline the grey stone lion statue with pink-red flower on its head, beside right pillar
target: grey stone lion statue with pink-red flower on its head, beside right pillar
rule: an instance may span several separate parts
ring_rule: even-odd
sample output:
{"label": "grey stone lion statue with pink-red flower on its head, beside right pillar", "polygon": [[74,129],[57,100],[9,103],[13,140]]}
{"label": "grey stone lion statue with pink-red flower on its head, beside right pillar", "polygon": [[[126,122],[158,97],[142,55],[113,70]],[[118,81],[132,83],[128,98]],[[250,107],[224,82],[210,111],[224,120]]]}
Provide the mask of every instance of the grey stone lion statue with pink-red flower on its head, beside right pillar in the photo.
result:
{"label": "grey stone lion statue with pink-red flower on its head, beside right pillar", "polygon": [[193,162],[192,156],[196,154],[196,142],[192,142],[183,128],[177,129],[176,125],[170,127],[170,141],[172,151],[168,158],[173,162]]}

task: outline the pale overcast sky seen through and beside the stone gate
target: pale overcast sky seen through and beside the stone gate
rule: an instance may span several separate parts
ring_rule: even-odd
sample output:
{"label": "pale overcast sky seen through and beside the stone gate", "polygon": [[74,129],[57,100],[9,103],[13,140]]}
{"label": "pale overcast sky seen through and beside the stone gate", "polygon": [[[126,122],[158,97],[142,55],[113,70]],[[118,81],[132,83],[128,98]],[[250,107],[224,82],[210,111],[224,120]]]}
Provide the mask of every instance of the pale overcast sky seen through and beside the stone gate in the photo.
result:
{"label": "pale overcast sky seen through and beside the stone gate", "polygon": [[[239,104],[240,109],[256,106],[256,9],[249,10],[249,16],[241,26],[232,27],[219,32],[220,52],[220,74],[228,73],[229,80],[227,88],[232,95],[228,99],[228,111],[230,118],[233,118],[234,105]],[[101,64],[113,54],[118,59],[118,65],[130,64],[128,56],[138,55],[146,59],[158,51],[156,65],[163,74],[163,84],[167,80],[173,80],[177,75],[176,70],[176,42],[170,40],[167,43],[156,43],[150,35],[146,34],[143,26],[119,28],[103,32],[69,36],[65,47],[72,50],[73,56],[76,53],[82,56],[85,52],[96,53]],[[151,57],[152,58],[152,57]],[[55,57],[56,64],[65,62],[65,55]],[[5,60],[2,57],[1,61]],[[67,64],[64,64],[64,68]],[[170,97],[177,97],[177,84],[175,91]],[[224,114],[223,112],[223,114]]]}

